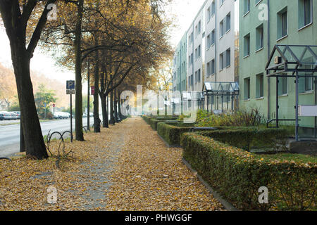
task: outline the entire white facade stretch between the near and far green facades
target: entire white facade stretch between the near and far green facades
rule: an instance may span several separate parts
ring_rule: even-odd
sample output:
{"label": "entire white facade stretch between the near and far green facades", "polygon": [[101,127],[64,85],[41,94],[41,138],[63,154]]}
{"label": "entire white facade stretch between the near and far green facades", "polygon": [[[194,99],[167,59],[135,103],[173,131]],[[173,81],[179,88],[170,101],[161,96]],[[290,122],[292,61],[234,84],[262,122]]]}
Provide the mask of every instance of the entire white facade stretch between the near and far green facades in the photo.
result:
{"label": "entire white facade stretch between the near and far green facades", "polygon": [[188,91],[235,81],[235,37],[235,0],[206,0],[187,30]]}

